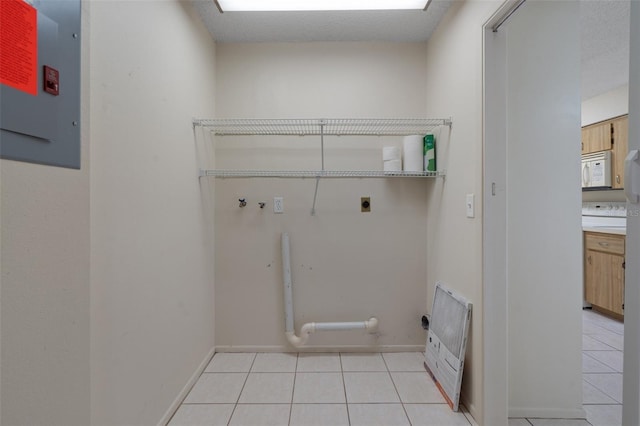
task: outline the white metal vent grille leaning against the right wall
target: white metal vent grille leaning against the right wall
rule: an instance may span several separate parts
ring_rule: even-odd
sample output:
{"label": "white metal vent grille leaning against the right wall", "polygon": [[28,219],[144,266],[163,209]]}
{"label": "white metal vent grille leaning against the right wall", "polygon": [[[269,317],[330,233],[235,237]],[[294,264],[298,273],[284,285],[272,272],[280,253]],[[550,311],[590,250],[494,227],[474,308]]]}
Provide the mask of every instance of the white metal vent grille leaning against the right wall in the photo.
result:
{"label": "white metal vent grille leaning against the right wall", "polygon": [[460,400],[471,306],[443,283],[436,283],[425,366],[453,411],[458,411]]}

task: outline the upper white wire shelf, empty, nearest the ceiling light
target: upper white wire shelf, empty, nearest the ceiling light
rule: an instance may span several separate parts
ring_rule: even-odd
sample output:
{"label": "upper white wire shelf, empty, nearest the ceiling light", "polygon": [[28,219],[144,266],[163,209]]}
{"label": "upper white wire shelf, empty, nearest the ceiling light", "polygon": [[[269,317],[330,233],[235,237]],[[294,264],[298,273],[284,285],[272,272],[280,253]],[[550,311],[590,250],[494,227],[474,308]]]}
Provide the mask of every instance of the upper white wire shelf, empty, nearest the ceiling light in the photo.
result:
{"label": "upper white wire shelf, empty, nearest the ceiling light", "polygon": [[406,136],[427,134],[439,126],[451,126],[451,119],[194,119],[193,125],[207,128],[220,136]]}

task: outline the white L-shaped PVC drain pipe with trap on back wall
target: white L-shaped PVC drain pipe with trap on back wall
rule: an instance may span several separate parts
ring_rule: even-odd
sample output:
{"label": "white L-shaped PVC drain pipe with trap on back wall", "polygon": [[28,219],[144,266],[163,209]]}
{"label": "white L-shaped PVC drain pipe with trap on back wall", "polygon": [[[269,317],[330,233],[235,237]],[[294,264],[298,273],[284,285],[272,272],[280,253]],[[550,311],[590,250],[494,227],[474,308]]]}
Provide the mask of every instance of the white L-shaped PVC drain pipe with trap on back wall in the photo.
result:
{"label": "white L-shaped PVC drain pipe with trap on back wall", "polygon": [[291,282],[291,249],[289,247],[289,234],[282,233],[282,276],[284,284],[284,323],[287,340],[295,347],[304,345],[309,335],[316,331],[342,331],[342,330],[369,330],[375,333],[378,329],[378,319],[369,318],[367,321],[355,322],[310,322],[300,329],[300,336],[296,336],[293,327],[293,289]]}

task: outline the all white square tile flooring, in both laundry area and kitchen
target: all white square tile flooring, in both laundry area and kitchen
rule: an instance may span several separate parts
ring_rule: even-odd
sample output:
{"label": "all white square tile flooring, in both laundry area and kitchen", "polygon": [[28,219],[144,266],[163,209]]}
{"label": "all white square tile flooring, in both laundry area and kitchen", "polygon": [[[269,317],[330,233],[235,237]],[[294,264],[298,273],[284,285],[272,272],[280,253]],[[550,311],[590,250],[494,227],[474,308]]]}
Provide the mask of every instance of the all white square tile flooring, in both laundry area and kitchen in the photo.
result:
{"label": "all white square tile flooring, in both laundry area and kitchen", "polygon": [[[624,326],[583,311],[587,420],[509,419],[509,426],[620,426]],[[424,354],[217,353],[169,426],[475,425],[425,373]]]}

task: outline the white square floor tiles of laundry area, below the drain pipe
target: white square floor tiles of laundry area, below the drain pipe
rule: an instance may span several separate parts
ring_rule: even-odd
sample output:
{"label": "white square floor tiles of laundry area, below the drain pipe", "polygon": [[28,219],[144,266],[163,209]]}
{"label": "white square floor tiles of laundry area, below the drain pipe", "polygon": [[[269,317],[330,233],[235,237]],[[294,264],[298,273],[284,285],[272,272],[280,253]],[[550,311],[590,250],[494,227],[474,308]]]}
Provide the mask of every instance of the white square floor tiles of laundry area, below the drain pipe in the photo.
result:
{"label": "white square floor tiles of laundry area, below the drain pipe", "polygon": [[169,426],[461,425],[424,354],[217,353]]}

